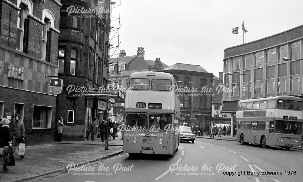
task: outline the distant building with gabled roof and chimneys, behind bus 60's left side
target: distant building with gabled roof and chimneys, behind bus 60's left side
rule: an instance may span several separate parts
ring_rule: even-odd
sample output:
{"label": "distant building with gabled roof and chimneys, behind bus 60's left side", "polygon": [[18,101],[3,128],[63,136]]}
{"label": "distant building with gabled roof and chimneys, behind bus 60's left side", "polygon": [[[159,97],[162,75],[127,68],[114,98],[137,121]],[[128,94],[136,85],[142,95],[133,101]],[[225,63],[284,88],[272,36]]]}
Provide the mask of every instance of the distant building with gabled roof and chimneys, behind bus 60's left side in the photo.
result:
{"label": "distant building with gabled roof and chimneys, behind bus 60's left side", "polygon": [[[121,50],[119,57],[109,60],[108,86],[110,88],[127,88],[128,76],[138,71],[158,71],[168,67],[162,63],[160,58],[156,60],[146,60],[143,47],[138,47],[137,55],[126,56],[125,50]],[[116,103],[110,111],[113,121],[120,121],[124,118],[124,103]]]}

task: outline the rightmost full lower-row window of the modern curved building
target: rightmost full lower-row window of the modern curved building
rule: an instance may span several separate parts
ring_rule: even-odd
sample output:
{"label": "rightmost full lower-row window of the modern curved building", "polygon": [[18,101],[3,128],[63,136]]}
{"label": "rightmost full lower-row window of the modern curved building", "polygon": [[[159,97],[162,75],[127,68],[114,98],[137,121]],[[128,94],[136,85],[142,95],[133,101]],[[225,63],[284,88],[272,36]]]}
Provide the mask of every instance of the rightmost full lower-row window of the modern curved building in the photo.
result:
{"label": "rightmost full lower-row window of the modern curved building", "polygon": [[290,62],[290,91],[299,90],[300,60]]}

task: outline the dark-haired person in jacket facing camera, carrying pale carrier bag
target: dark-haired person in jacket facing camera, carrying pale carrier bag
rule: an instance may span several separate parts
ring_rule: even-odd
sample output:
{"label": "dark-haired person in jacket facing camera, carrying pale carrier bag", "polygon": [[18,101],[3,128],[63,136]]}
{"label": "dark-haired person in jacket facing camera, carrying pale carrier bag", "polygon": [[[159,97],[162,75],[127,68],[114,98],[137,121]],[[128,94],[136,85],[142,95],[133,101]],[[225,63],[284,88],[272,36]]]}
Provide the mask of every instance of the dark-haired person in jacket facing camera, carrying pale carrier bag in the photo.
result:
{"label": "dark-haired person in jacket facing camera, carrying pale carrier bag", "polygon": [[[24,136],[25,136],[25,127],[24,123],[21,121],[21,117],[19,114],[15,114],[15,122],[14,122],[14,132],[13,132],[13,140],[12,140],[12,146],[18,147],[19,143],[24,142]],[[20,155],[20,159],[24,158],[24,155]]]}

